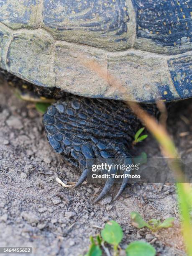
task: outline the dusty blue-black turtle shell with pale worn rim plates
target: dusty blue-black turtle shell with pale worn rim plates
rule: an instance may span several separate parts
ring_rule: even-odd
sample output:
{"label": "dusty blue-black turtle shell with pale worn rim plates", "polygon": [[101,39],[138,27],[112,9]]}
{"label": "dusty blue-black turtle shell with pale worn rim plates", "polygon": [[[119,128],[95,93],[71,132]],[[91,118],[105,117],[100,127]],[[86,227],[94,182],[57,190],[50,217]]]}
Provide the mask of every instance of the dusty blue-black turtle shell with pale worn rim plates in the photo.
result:
{"label": "dusty blue-black turtle shell with pale worn rim plates", "polygon": [[0,1],[0,67],[39,86],[148,103],[184,99],[192,97],[191,50],[192,0]]}

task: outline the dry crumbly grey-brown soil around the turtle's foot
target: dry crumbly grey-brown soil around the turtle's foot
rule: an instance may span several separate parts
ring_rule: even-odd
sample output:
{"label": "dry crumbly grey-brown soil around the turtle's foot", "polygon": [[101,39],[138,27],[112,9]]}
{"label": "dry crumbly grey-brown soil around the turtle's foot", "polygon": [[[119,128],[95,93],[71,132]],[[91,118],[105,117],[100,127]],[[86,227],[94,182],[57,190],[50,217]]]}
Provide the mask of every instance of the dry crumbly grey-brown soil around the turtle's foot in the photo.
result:
{"label": "dry crumbly grey-brown soil around the turtle's foot", "polygon": [[[191,103],[192,100],[177,103],[168,123],[179,152],[189,158]],[[143,148],[148,156],[160,155],[151,136],[138,151]],[[78,169],[51,150],[42,117],[34,105],[19,100],[9,87],[0,86],[0,246],[30,246],[33,255],[84,255],[89,236],[113,219],[124,231],[122,248],[131,241],[143,240],[150,242],[158,255],[184,255],[172,184],[132,184],[119,200],[112,202],[118,191],[116,185],[94,205],[92,199],[100,187],[83,184],[73,190],[55,182],[55,177],[75,182],[79,174]],[[172,216],[175,225],[158,233],[138,230],[131,225],[132,210],[146,220]]]}

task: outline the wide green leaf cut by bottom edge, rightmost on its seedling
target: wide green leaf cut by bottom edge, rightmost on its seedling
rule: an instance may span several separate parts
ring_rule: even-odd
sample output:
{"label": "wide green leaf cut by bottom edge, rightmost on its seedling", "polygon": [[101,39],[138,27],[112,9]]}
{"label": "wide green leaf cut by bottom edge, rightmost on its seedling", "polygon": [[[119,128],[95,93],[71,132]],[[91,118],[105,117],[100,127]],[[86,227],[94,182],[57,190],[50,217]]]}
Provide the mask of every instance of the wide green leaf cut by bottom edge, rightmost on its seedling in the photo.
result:
{"label": "wide green leaf cut by bottom edge, rightmost on its seedling", "polygon": [[127,256],[155,256],[156,250],[151,244],[135,241],[125,249]]}

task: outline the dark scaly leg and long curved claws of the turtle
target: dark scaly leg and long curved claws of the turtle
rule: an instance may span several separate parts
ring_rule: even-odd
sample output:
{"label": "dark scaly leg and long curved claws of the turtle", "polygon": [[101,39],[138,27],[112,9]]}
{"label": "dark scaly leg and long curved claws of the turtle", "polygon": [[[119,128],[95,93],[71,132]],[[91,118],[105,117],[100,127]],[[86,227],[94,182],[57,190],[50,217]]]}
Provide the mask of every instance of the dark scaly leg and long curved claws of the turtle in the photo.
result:
{"label": "dark scaly leg and long curved claws of the turtle", "polygon": [[[154,105],[144,108],[155,113]],[[46,136],[54,151],[82,170],[76,186],[87,177],[86,159],[130,158],[129,147],[141,123],[125,103],[68,95],[51,105],[44,115]],[[104,197],[114,180],[107,179],[94,202]],[[124,179],[115,199],[127,185]]]}

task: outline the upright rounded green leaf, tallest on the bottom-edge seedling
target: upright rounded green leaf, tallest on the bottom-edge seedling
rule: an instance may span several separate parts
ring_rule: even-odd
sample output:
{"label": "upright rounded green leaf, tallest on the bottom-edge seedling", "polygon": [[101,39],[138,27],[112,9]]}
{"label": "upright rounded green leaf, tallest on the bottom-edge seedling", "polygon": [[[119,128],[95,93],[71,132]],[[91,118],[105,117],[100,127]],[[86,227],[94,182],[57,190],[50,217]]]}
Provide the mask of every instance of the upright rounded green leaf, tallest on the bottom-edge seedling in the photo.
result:
{"label": "upright rounded green leaf, tallest on the bottom-edge seedling", "polygon": [[123,230],[116,221],[110,220],[101,231],[101,236],[105,242],[117,246],[123,238]]}

